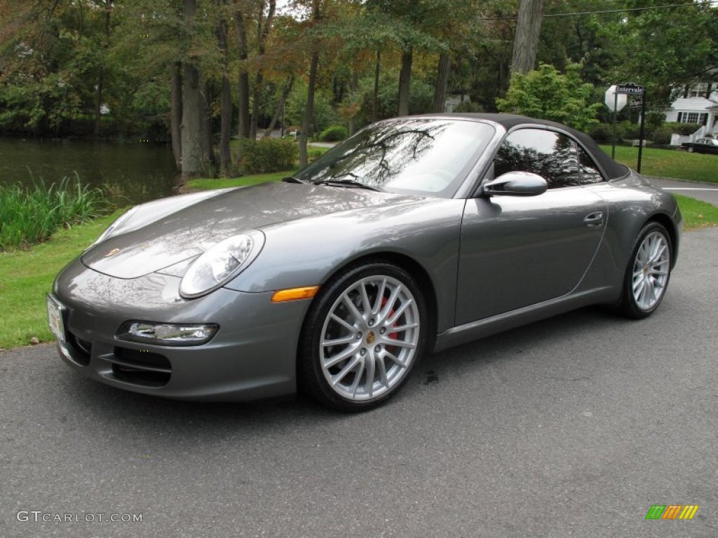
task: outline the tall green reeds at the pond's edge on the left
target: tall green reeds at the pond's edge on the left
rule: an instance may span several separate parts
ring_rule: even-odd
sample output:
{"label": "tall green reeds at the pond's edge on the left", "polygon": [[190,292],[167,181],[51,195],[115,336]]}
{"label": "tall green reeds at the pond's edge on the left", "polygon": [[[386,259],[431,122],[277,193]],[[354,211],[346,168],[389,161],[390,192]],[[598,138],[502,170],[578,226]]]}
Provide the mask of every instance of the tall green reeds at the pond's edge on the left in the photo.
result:
{"label": "tall green reeds at the pond's edge on the left", "polygon": [[47,187],[40,179],[32,189],[0,187],[0,251],[45,241],[60,227],[98,217],[107,207],[100,189],[65,177]]}

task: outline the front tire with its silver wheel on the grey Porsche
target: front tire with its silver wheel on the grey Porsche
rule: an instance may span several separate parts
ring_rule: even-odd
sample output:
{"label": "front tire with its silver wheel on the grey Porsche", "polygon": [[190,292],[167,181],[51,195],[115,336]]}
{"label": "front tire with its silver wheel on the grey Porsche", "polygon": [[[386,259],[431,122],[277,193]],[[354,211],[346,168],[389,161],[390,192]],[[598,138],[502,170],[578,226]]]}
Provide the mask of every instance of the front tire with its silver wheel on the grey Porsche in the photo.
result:
{"label": "front tire with its silver wheel on the grey Porsche", "polygon": [[[395,290],[396,298],[390,304]],[[375,308],[378,311],[374,312]],[[322,286],[304,320],[299,344],[300,389],[342,411],[381,405],[401,389],[424,354],[428,319],[419,284],[396,265],[362,263],[335,275]],[[410,328],[401,330],[403,327]],[[334,341],[341,343],[331,344]],[[412,344],[413,349],[409,347]],[[337,360],[340,362],[332,364]],[[401,362],[406,366],[401,367]],[[335,380],[333,386],[328,378]]]}

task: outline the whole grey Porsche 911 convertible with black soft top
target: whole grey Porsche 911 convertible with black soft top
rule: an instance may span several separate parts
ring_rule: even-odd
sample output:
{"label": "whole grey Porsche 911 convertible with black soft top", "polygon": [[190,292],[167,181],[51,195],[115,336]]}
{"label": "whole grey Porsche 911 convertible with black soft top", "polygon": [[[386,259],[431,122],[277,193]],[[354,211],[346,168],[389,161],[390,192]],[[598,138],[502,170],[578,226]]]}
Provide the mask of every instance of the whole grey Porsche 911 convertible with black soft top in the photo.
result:
{"label": "whole grey Porsche 911 convertible with black soft top", "polygon": [[427,352],[590,304],[649,316],[681,225],[566,126],[397,118],[284,181],[130,209],[47,309],[62,359],[113,387],[365,410]]}

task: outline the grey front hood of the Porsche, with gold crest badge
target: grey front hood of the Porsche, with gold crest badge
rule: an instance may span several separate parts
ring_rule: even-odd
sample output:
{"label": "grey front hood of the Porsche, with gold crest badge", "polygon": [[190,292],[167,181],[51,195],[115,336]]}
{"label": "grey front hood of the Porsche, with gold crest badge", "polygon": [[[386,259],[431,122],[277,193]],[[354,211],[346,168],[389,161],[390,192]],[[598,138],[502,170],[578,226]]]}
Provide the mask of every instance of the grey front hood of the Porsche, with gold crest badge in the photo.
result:
{"label": "grey front hood of the Porsche, with gold crest badge", "polygon": [[87,250],[82,262],[116,278],[138,278],[200,255],[246,230],[414,199],[367,189],[294,183],[233,189],[109,237]]}

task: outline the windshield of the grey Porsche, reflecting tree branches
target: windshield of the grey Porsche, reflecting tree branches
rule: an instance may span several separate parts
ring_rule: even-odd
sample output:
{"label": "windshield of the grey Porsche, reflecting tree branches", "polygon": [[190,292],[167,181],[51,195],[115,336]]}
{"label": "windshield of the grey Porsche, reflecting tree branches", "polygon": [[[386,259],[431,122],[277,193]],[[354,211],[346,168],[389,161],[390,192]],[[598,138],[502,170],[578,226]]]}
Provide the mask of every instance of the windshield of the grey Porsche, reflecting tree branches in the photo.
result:
{"label": "windshield of the grey Porsche, reflecting tree branches", "polygon": [[315,184],[449,198],[495,131],[488,123],[398,118],[363,129],[297,174]]}

